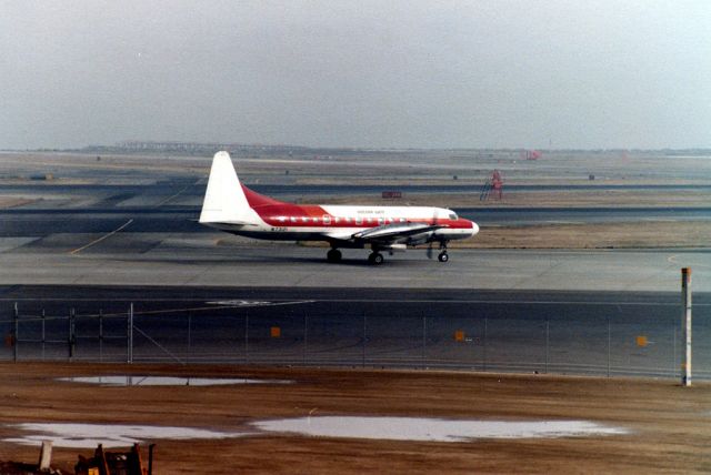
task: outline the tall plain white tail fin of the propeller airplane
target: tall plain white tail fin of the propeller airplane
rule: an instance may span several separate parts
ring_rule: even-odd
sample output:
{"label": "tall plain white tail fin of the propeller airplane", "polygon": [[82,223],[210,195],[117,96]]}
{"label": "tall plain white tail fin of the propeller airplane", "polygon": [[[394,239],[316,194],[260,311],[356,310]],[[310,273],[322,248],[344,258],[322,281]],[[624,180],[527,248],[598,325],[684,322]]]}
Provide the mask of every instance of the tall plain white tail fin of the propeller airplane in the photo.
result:
{"label": "tall plain white tail fin of the propeller airplane", "polygon": [[249,206],[228,152],[218,152],[212,159],[212,169],[210,169],[208,191],[202,202],[200,222],[204,224],[259,223],[259,216]]}

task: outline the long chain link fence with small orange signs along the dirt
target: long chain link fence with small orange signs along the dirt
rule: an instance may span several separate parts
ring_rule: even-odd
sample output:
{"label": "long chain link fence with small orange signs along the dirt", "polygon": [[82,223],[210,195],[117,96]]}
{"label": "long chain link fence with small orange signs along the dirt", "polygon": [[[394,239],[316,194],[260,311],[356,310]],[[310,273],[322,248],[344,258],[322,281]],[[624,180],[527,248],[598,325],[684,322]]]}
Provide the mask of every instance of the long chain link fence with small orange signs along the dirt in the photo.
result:
{"label": "long chain link fence with small orange signs along the dirt", "polygon": [[[681,319],[609,309],[582,315],[537,311],[524,319],[461,304],[379,310],[377,304],[213,302],[154,309],[113,303],[50,314],[14,304],[4,321],[11,361],[228,363],[455,368],[675,377]],[[122,310],[121,310],[122,309]],[[711,377],[711,329],[697,319],[693,375]],[[697,322],[701,322],[697,324]]]}

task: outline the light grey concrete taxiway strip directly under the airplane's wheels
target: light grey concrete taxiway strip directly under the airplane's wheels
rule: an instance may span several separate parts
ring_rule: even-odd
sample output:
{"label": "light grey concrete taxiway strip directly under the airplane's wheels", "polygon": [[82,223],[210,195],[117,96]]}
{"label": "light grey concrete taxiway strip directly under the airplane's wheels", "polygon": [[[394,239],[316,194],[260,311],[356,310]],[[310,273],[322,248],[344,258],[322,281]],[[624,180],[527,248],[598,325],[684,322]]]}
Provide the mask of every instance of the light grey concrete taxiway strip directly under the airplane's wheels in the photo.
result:
{"label": "light grey concrete taxiway strip directly under the airplane's wheels", "polygon": [[368,250],[344,250],[342,263],[329,264],[323,247],[250,242],[221,233],[119,232],[2,239],[0,251],[4,285],[679,292],[680,269],[691,266],[694,290],[711,291],[708,250],[453,249],[448,263],[411,250],[387,255],[383,265],[373,267],[365,259]]}

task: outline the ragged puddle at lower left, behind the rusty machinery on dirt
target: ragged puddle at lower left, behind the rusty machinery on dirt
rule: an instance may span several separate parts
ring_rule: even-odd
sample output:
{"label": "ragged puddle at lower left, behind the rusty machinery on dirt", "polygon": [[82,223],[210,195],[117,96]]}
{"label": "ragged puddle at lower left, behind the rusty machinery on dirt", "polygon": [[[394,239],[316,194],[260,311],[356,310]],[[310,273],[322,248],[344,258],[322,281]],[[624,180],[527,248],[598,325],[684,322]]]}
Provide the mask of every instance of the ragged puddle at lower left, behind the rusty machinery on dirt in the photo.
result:
{"label": "ragged puddle at lower left, behind the rusty machinery on dirt", "polygon": [[162,427],[149,425],[113,425],[113,424],[16,424],[12,427],[34,434],[24,437],[3,438],[21,445],[37,445],[42,441],[52,441],[56,447],[96,448],[129,447],[137,443],[152,439],[187,438],[228,438],[242,437],[248,433],[229,433],[194,427]]}

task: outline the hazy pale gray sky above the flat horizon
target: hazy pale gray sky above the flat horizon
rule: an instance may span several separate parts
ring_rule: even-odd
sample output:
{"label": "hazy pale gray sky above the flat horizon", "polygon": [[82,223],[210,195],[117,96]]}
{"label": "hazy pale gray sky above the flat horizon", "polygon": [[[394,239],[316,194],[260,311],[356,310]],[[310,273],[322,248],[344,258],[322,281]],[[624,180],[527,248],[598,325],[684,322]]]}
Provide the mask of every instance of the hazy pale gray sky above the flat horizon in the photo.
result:
{"label": "hazy pale gray sky above the flat horizon", "polygon": [[0,148],[711,146],[711,2],[0,0]]}

